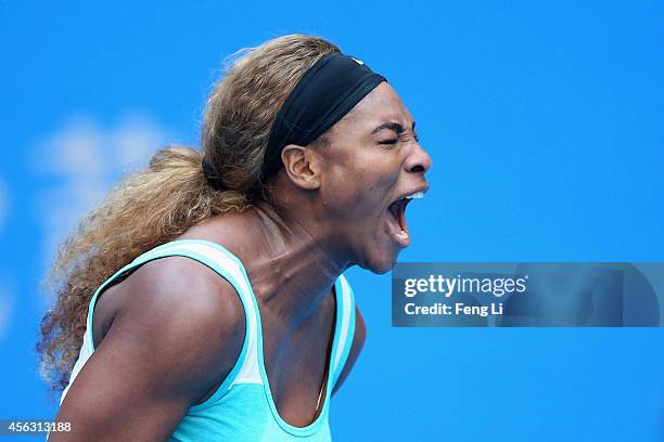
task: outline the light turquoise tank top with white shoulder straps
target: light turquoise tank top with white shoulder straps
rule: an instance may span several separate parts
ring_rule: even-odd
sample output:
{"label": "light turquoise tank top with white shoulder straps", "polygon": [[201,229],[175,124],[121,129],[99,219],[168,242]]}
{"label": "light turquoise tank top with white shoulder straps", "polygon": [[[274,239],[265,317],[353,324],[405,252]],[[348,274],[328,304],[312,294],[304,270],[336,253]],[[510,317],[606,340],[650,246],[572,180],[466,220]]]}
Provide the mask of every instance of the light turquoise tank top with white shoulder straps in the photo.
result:
{"label": "light turquoise tank top with white shoulder straps", "polygon": [[321,398],[322,411],[310,425],[295,427],[279,416],[270,391],[263,358],[260,313],[246,271],[242,262],[226,248],[202,239],[180,239],[155,247],[125,265],[97,289],[88,308],[87,329],[79,358],[72,370],[69,385],[62,393],[61,404],[69,386],[94,352],[92,312],[99,295],[113,281],[135,271],[141,264],[173,256],[194,259],[226,278],[240,296],[246,329],[242,351],[228,377],[209,399],[188,410],[170,440],[330,441],[330,395],[346,363],[355,334],[355,299],[346,278],[341,275],[334,284],[336,322],[328,365],[327,392],[324,398]]}

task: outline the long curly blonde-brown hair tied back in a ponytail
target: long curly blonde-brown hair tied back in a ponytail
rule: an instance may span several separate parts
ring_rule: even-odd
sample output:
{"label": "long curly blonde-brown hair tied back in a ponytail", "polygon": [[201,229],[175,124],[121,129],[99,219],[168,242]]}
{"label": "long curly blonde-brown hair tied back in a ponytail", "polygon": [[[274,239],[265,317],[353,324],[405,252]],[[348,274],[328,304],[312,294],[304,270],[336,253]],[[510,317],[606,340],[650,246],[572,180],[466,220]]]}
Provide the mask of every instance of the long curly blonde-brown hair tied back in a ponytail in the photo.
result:
{"label": "long curly blonde-brown hair tied back in a ponytail", "polygon": [[[53,392],[68,384],[88,304],[105,280],[206,218],[268,199],[259,172],[272,121],[302,76],[332,52],[340,50],[319,37],[288,35],[234,54],[207,101],[202,152],[175,145],[158,151],[79,222],[47,275],[55,302],[41,320],[36,346],[40,374]],[[206,181],[203,154],[224,191]]]}

